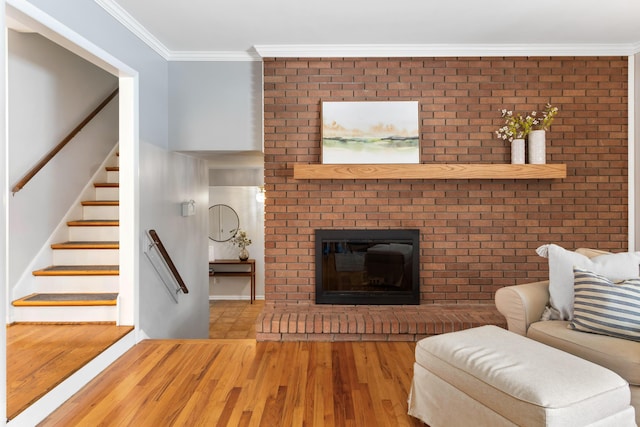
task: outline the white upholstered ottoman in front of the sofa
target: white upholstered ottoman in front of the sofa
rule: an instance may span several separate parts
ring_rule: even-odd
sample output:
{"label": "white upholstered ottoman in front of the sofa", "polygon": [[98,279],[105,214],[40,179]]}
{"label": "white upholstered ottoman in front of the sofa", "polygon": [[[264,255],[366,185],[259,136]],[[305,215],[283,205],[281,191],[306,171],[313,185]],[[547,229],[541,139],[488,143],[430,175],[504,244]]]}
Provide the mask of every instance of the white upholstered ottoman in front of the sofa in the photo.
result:
{"label": "white upholstered ottoman in front of the sofa", "polygon": [[497,326],[416,345],[409,414],[430,427],[635,426],[627,382]]}

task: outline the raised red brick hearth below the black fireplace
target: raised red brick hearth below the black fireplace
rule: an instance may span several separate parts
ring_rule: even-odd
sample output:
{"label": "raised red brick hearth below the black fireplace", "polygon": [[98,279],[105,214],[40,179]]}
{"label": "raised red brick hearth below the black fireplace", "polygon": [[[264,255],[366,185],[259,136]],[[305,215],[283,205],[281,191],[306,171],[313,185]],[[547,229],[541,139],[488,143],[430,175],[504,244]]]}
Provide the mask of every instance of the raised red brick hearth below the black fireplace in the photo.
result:
{"label": "raised red brick hearth below the black fireplace", "polygon": [[506,328],[489,304],[278,305],[265,304],[256,322],[258,341],[416,341],[482,325]]}

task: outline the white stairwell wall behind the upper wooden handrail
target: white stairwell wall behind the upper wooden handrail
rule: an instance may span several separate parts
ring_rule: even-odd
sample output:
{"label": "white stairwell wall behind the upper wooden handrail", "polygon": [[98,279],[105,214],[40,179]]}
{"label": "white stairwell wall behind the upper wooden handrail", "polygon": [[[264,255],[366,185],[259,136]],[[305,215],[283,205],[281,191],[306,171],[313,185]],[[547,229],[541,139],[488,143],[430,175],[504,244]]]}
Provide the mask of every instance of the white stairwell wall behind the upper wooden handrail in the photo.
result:
{"label": "white stairwell wall behind the upper wooden handrail", "polygon": [[[9,31],[7,60],[9,182],[13,186],[118,81],[38,34]],[[30,274],[25,268],[117,142],[116,98],[9,199],[10,286]]]}

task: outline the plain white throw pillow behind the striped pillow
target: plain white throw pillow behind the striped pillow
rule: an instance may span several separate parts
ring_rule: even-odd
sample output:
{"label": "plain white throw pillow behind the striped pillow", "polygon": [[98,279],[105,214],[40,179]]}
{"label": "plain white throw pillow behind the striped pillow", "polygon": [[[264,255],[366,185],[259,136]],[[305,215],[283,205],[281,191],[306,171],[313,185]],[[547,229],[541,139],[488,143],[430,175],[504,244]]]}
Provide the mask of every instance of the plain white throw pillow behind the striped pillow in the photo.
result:
{"label": "plain white throw pillow behind the striped pillow", "polygon": [[555,244],[542,245],[536,253],[549,259],[551,320],[573,317],[573,267],[585,268],[611,280],[640,277],[640,252],[623,252],[589,258]]}

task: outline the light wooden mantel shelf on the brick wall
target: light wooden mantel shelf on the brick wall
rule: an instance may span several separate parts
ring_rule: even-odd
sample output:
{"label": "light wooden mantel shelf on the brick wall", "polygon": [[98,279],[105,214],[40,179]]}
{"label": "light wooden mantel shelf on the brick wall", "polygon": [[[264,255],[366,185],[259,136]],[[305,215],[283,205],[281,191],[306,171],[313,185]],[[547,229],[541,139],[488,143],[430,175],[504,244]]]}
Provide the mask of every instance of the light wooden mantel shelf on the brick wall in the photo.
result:
{"label": "light wooden mantel shelf on the brick wall", "polygon": [[567,165],[500,163],[303,164],[293,165],[294,179],[556,179]]}

